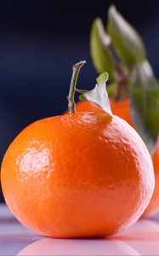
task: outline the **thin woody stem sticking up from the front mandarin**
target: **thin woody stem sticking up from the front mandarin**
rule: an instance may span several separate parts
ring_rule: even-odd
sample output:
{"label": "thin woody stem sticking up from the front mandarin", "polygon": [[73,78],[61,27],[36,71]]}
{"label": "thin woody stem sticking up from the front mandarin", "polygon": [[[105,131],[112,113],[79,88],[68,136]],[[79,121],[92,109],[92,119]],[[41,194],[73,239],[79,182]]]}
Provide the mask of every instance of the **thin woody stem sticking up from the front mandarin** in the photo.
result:
{"label": "thin woody stem sticking up from the front mandarin", "polygon": [[86,61],[80,61],[73,66],[70,90],[69,90],[69,95],[67,96],[69,113],[76,113],[76,105],[75,105],[75,101],[74,101],[74,96],[75,96],[75,91],[76,91],[77,77],[78,77],[78,74],[79,74],[82,66],[85,63],[86,63]]}

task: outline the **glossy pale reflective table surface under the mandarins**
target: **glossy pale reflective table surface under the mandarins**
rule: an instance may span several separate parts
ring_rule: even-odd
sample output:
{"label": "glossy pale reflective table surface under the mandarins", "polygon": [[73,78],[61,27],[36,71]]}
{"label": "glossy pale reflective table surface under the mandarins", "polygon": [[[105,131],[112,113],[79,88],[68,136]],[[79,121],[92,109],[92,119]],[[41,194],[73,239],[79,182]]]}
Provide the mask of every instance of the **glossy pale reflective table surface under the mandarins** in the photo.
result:
{"label": "glossy pale reflective table surface under the mandarins", "polygon": [[0,255],[159,255],[159,213],[111,239],[71,240],[33,233],[0,209]]}

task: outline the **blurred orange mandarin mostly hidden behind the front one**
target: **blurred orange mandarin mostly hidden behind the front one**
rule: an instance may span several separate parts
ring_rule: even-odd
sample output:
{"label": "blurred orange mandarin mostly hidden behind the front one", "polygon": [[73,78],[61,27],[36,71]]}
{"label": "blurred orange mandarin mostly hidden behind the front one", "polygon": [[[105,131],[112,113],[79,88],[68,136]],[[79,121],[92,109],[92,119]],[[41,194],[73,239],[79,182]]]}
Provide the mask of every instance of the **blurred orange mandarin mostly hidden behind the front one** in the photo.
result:
{"label": "blurred orange mandarin mostly hidden behind the front one", "polygon": [[[116,114],[120,118],[126,120],[129,125],[133,125],[133,121],[130,116],[130,102],[129,100],[122,100],[120,102],[110,101],[111,110],[113,114]],[[77,102],[77,111],[93,111],[94,113],[99,113],[103,111],[98,106],[95,106],[92,102]],[[155,153],[152,156],[154,171],[156,177],[156,186],[154,194],[150,200],[150,204],[147,207],[144,215],[148,215],[159,210],[159,137],[156,143]]]}

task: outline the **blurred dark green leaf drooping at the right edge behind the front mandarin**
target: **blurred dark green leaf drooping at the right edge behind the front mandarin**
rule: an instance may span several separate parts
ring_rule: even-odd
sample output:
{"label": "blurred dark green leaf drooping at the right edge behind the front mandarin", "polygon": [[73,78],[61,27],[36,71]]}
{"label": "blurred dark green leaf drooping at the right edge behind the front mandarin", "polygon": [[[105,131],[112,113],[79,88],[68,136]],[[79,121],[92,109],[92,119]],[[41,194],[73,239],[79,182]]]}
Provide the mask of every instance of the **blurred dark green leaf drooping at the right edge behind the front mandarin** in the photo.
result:
{"label": "blurred dark green leaf drooping at the right edge behind the front mandarin", "polygon": [[133,122],[152,152],[159,133],[159,84],[145,64],[134,67],[132,76]]}

